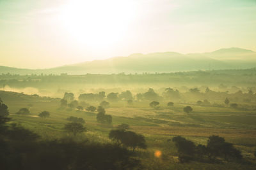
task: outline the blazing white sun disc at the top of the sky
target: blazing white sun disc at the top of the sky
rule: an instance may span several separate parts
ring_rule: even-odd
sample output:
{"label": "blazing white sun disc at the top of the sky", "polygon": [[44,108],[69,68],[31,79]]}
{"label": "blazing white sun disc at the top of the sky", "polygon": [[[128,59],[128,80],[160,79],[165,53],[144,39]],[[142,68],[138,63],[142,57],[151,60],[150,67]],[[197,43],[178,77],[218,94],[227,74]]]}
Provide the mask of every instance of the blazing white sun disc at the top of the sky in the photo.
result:
{"label": "blazing white sun disc at the top of the sky", "polygon": [[132,1],[72,0],[61,7],[61,24],[82,45],[92,47],[118,43],[136,16]]}

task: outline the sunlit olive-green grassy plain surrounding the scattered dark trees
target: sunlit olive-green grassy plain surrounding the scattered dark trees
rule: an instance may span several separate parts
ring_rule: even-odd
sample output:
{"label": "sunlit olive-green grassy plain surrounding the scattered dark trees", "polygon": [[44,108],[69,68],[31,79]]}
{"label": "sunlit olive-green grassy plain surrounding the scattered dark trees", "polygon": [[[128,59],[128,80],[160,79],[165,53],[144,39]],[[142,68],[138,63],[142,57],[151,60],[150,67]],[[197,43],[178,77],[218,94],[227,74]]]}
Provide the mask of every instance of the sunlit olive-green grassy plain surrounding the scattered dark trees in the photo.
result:
{"label": "sunlit olive-green grassy plain surrounding the scattered dark trees", "polygon": [[[96,120],[96,113],[78,111],[74,109],[60,109],[60,99],[50,97],[28,96],[14,92],[0,92],[0,97],[8,106],[12,121],[21,124],[39,134],[42,139],[57,139],[67,134],[63,127],[68,122],[67,117],[81,117],[88,129],[78,139],[109,143],[108,132],[118,124],[129,124],[131,131],[145,136],[147,150],[138,150],[146,169],[255,169],[256,148],[256,111],[243,111],[230,107],[199,106],[195,103],[174,103],[167,107],[167,101],[160,104],[159,109],[150,108],[147,102],[135,102],[127,106],[126,102],[110,103],[106,113],[112,115],[112,125],[100,125]],[[90,103],[98,106],[99,103]],[[255,103],[252,103],[255,104]],[[184,106],[191,106],[192,113],[184,113]],[[30,115],[16,115],[20,108],[29,108]],[[38,113],[49,111],[49,118],[40,118]],[[207,143],[211,135],[224,137],[226,141],[234,143],[241,150],[249,163],[221,163],[189,162],[180,164],[177,161],[177,150],[172,141],[174,136],[183,136],[196,144]],[[154,152],[160,150],[163,155],[154,157]]]}

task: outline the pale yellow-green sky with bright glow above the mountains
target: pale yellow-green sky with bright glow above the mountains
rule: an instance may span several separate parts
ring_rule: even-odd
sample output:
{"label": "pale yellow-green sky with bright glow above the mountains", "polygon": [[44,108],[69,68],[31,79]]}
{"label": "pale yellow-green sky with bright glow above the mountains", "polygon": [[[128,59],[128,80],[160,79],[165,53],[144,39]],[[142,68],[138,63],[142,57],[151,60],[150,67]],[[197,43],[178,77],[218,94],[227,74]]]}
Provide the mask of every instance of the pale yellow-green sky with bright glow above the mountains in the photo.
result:
{"label": "pale yellow-green sky with bright glow above the mountains", "polygon": [[0,66],[132,53],[256,51],[256,0],[0,0]]}

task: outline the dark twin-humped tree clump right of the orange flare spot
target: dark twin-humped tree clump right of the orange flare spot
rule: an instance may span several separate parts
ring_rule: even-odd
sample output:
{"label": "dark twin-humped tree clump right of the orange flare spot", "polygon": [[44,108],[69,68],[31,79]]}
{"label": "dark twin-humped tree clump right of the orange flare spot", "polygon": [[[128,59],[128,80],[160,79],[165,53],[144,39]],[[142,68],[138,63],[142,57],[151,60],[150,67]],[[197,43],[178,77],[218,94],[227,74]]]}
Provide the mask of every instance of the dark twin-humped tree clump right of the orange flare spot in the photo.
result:
{"label": "dark twin-humped tree clump right of the orange flare spot", "polygon": [[188,162],[189,160],[216,160],[221,158],[224,160],[241,160],[242,155],[239,150],[234,148],[232,143],[228,143],[220,136],[210,136],[207,145],[195,145],[192,141],[174,137],[172,141],[177,147],[180,162]]}

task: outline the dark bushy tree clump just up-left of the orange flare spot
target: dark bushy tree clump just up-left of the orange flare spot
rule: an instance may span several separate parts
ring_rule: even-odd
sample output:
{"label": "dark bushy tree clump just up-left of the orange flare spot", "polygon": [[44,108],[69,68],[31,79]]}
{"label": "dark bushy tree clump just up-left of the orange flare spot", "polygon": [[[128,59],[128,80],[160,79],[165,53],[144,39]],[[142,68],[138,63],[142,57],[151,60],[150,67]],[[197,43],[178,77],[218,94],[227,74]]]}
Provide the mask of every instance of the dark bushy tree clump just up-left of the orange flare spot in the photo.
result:
{"label": "dark bushy tree clump just up-left of the orange flare spot", "polygon": [[127,131],[129,125],[118,125],[118,129],[113,129],[109,132],[109,139],[115,141],[120,146],[131,148],[134,152],[136,148],[146,149],[146,141],[143,135],[136,134],[136,132]]}

